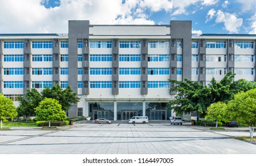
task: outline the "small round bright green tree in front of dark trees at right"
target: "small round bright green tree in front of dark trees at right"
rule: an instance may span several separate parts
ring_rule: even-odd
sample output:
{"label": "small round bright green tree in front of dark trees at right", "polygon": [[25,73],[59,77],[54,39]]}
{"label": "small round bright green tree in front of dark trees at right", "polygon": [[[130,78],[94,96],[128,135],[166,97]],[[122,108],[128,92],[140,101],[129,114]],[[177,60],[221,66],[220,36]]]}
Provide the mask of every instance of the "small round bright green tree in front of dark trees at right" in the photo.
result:
{"label": "small round bright green tree in front of dark trees at right", "polygon": [[216,120],[216,128],[218,127],[218,121],[225,121],[226,120],[226,103],[219,101],[217,103],[211,104],[207,107],[206,111],[206,119]]}

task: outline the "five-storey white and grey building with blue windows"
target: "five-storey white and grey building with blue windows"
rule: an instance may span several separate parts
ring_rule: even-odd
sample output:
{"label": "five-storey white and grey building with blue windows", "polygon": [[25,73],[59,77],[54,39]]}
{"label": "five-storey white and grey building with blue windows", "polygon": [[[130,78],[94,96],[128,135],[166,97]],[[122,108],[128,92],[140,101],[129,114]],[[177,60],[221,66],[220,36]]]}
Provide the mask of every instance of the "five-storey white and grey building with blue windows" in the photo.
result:
{"label": "five-storey white and grey building with blue windows", "polygon": [[0,34],[0,92],[71,86],[81,98],[69,117],[127,120],[172,116],[168,79],[217,81],[229,71],[255,81],[255,35],[192,36],[191,21],[169,25],[91,25],[69,21],[68,34]]}

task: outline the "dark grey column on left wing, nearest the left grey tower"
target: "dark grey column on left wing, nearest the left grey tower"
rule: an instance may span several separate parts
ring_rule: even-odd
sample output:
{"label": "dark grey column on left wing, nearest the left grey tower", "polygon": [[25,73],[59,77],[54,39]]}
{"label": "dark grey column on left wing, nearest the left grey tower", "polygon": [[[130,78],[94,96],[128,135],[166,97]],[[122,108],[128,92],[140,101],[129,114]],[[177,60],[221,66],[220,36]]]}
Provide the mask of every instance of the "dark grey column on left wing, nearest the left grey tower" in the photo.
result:
{"label": "dark grey column on left wing, nearest the left grey tower", "polygon": [[52,81],[53,84],[59,84],[59,39],[53,39],[53,44],[52,44],[52,54],[53,54],[53,59],[52,59]]}

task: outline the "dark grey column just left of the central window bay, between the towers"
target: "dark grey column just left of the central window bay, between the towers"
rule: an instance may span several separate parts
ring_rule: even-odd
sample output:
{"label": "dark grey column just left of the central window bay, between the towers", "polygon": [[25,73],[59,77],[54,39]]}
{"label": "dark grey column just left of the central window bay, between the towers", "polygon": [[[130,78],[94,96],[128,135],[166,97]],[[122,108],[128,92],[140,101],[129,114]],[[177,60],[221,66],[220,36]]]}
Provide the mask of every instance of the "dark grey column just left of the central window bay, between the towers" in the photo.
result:
{"label": "dark grey column just left of the central window bay, between the towers", "polygon": [[112,42],[112,94],[118,95],[119,94],[119,40],[113,39]]}

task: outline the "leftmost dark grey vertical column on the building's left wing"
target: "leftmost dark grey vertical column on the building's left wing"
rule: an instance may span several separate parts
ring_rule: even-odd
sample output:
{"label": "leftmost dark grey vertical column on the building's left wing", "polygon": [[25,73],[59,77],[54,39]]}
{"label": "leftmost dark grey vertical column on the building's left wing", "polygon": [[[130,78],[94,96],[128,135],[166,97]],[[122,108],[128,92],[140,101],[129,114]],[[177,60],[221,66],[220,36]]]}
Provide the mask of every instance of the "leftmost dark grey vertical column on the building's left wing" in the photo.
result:
{"label": "leftmost dark grey vertical column on the building's left wing", "polygon": [[23,74],[23,94],[25,95],[27,90],[29,90],[30,87],[30,66],[31,66],[31,40],[30,39],[24,39],[24,61],[23,61],[23,67],[24,67],[24,74]]}

